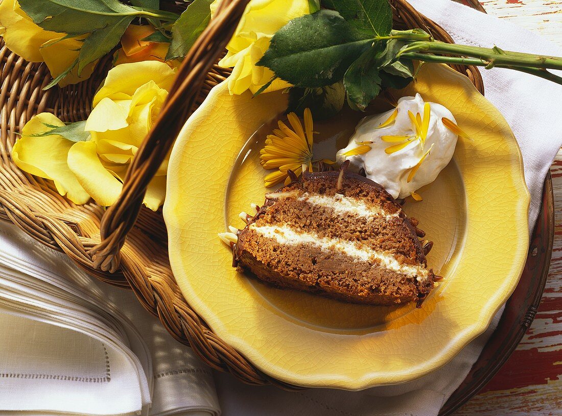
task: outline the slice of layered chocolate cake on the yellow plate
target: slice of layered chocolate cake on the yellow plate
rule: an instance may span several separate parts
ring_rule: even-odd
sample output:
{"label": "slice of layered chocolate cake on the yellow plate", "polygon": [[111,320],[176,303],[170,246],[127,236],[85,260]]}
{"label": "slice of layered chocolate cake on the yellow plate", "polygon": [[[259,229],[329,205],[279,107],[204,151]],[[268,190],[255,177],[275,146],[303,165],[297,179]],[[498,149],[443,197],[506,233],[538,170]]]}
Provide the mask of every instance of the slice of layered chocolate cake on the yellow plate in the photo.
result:
{"label": "slice of layered chocolate cake on the yellow plate", "polygon": [[420,301],[434,286],[417,221],[345,167],[305,172],[246,220],[235,263],[275,286],[371,305]]}

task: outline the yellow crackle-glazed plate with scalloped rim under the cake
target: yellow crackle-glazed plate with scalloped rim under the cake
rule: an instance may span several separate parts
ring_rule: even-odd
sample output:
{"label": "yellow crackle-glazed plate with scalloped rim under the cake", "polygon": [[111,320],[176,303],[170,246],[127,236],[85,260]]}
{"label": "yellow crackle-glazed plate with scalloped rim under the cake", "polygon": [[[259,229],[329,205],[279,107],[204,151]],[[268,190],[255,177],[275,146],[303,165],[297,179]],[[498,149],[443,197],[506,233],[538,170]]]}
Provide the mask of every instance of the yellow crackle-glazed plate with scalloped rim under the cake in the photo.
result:
{"label": "yellow crackle-glazed plate with scalloped rim under the cake", "polygon": [[[515,289],[528,250],[529,194],[509,126],[446,66],[423,66],[401,95],[414,92],[449,108],[472,138],[460,139],[453,161],[420,190],[423,202],[404,207],[435,242],[428,263],[445,277],[422,309],[274,289],[231,267],[217,233],[242,228],[238,213],[264,199],[267,172],[258,162],[266,129],[253,134],[284,111],[286,94],[231,96],[223,83],[184,126],[164,205],[171,266],[189,304],[264,373],[350,390],[414,380],[482,333]],[[333,158],[359,117],[345,113],[315,125],[325,140],[315,146]]]}

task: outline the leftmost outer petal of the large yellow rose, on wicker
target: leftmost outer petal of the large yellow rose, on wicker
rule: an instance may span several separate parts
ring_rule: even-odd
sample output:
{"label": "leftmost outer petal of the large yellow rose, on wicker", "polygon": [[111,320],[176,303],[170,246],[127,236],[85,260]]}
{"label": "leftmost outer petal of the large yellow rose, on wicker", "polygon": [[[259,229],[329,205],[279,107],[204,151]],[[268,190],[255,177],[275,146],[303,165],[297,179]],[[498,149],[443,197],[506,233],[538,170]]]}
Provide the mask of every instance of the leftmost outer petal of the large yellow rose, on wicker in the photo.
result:
{"label": "leftmost outer petal of the large yellow rose, on wicker", "polygon": [[58,193],[66,195],[76,204],[85,204],[90,195],[82,188],[66,163],[70,148],[75,143],[60,135],[33,137],[49,130],[45,124],[64,126],[64,123],[49,113],[40,113],[31,118],[21,131],[21,138],[12,149],[16,166],[25,172],[55,182]]}

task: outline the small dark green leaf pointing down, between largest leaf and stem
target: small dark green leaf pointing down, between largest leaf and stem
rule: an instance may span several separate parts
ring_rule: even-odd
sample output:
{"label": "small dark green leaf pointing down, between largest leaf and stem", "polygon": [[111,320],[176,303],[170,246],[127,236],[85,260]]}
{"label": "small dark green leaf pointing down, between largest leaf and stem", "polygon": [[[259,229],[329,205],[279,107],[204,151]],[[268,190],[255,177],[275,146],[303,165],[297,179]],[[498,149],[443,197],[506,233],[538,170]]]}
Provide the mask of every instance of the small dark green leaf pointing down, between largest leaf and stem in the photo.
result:
{"label": "small dark green leaf pointing down, between largest leaf and stem", "polygon": [[365,51],[357,61],[353,62],[343,77],[343,84],[347,90],[347,102],[353,109],[365,111],[380,93],[381,79],[377,55],[380,53],[380,44]]}

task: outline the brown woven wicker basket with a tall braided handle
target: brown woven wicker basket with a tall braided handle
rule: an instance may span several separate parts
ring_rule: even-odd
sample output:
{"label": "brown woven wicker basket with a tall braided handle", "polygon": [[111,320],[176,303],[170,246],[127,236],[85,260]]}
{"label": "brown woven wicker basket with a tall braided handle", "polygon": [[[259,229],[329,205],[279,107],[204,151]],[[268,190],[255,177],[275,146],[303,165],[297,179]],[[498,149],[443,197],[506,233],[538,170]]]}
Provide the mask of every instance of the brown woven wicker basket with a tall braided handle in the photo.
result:
{"label": "brown woven wicker basket with a tall braided handle", "polygon": [[[437,24],[416,12],[405,0],[390,0],[395,28],[422,28],[434,38],[452,43]],[[90,202],[75,205],[58,194],[51,181],[22,172],[11,159],[17,133],[40,112],[64,121],[84,120],[110,60],[100,62],[89,80],[63,89],[43,87],[51,75],[43,63],[29,63],[0,44],[0,217],[11,221],[40,243],[65,252],[85,271],[112,285],[132,289],[144,308],[167,330],[191,346],[212,368],[229,371],[254,385],[273,383],[297,388],[261,373],[198,316],[185,301],[167,258],[162,213],[142,207],[144,190],[187,117],[223,81],[229,71],[215,65],[237,26],[248,0],[223,0],[179,70],[169,98],[152,131],[130,166],[119,200],[107,210]],[[482,10],[476,0],[471,6]],[[454,67],[483,93],[475,67]]]}

